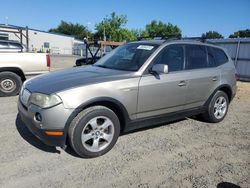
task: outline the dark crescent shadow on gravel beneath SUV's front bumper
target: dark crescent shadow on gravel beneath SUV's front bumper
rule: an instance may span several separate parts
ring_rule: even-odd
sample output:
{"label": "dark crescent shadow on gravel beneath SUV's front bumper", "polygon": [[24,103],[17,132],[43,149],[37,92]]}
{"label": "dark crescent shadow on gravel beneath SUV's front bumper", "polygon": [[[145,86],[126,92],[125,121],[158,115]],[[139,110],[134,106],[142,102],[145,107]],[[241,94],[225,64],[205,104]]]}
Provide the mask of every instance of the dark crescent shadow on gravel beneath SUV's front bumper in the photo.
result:
{"label": "dark crescent shadow on gravel beneath SUV's front bumper", "polygon": [[44,144],[42,141],[40,141],[38,138],[36,138],[25,126],[25,124],[22,122],[18,114],[16,116],[16,128],[21,137],[32,146],[45,152],[58,153],[58,154],[60,153],[60,150],[57,150],[56,147],[48,146]]}

